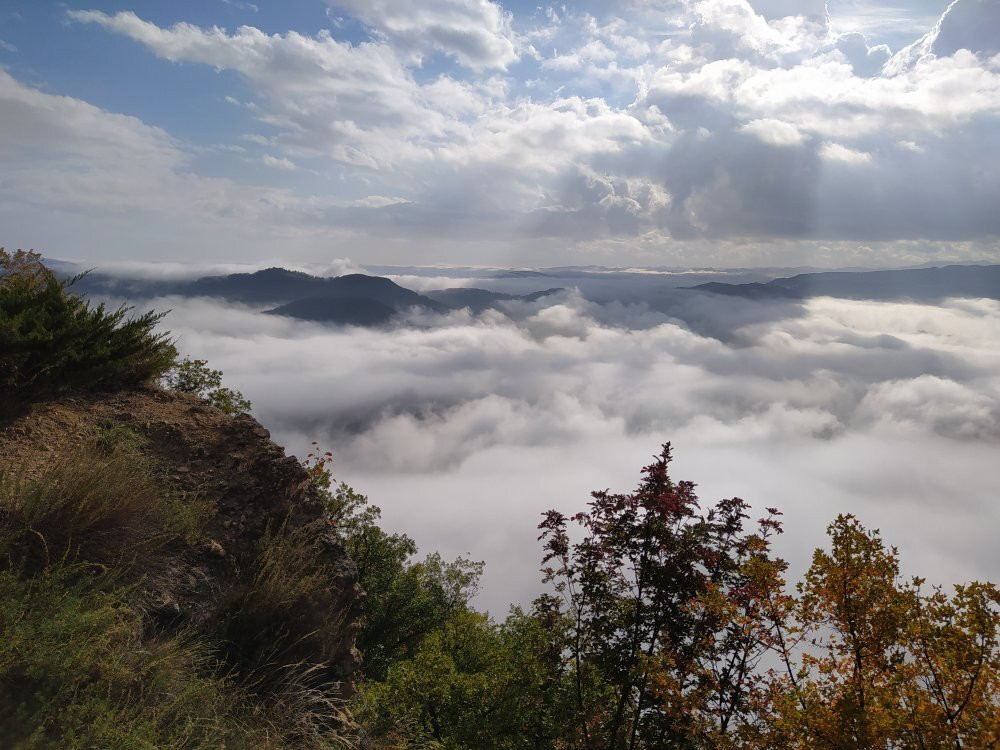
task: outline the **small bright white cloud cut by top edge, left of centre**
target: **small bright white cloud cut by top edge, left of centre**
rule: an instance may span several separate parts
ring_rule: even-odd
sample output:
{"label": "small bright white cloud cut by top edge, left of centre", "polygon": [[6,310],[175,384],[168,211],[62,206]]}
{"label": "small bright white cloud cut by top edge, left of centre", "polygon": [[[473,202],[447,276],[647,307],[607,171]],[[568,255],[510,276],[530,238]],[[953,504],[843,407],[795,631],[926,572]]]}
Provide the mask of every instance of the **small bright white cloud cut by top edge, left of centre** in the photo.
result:
{"label": "small bright white cloud cut by top edge, left of centre", "polygon": [[490,0],[327,0],[420,59],[442,53],[473,70],[518,59],[511,15]]}

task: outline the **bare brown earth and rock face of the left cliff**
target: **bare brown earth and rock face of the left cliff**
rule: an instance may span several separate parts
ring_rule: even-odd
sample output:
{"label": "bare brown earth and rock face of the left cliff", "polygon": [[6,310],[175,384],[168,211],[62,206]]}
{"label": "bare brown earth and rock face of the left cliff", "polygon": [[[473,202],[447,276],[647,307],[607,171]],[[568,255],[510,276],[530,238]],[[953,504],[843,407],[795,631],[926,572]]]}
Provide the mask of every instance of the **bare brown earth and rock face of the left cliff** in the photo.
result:
{"label": "bare brown earth and rock face of the left cliff", "polygon": [[340,623],[323,646],[323,662],[327,681],[348,697],[359,663],[357,567],[305,469],[252,417],[228,417],[193,397],[152,388],[67,396],[0,424],[0,466],[38,473],[115,427],[146,438],[144,453],[165,492],[210,508],[203,538],[172,542],[162,565],[148,572],[144,588],[155,619],[214,637],[254,575],[261,540],[269,530],[297,530],[330,573],[324,611],[301,616]]}

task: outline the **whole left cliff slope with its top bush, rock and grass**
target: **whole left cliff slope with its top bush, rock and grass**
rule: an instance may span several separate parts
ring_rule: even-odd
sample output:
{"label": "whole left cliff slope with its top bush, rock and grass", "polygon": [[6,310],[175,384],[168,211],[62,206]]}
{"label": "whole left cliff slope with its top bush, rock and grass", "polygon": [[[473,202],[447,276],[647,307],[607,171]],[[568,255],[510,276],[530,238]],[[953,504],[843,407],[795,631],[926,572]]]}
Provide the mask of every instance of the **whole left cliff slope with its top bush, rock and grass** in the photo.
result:
{"label": "whole left cliff slope with its top bush, rock and grass", "polygon": [[0,747],[354,746],[357,568],[305,469],[158,316],[0,263]]}

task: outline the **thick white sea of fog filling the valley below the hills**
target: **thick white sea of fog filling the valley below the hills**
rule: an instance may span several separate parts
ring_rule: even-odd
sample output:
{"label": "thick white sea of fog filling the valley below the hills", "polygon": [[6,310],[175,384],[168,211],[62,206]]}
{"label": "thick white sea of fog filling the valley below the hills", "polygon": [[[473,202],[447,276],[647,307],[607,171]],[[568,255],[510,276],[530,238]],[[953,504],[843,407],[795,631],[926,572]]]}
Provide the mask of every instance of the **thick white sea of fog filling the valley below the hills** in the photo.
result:
{"label": "thick white sea of fog filling the valley below the hills", "polygon": [[538,590],[539,513],[631,488],[664,440],[705,500],[785,512],[796,574],[825,524],[853,512],[912,572],[997,577],[995,301],[819,298],[742,326],[749,308],[717,307],[727,341],[572,291],[388,331],[204,300],[157,306],[173,308],[180,348],[223,369],[279,442],[333,450],[337,475],[425,550],[485,558],[483,602],[496,612]]}

